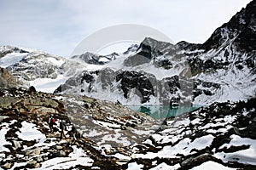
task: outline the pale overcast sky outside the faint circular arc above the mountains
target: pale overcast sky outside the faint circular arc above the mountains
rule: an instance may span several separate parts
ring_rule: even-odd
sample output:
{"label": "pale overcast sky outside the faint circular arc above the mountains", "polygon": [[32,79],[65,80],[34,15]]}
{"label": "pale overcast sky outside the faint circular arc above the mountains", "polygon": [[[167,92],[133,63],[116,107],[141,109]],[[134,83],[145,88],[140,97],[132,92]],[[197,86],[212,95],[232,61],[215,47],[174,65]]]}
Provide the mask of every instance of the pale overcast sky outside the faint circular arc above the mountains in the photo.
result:
{"label": "pale overcast sky outside the faint circular arc above the mountains", "polygon": [[69,56],[108,26],[150,26],[173,42],[205,42],[252,0],[0,0],[0,45]]}

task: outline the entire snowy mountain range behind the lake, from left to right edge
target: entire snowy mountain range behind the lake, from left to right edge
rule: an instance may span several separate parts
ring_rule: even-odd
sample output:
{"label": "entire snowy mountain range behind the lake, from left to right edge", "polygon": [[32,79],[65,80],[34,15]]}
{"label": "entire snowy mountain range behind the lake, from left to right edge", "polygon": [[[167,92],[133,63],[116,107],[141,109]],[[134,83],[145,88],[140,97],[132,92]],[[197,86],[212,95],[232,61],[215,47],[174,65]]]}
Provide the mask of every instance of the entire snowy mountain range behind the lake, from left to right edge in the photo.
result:
{"label": "entire snowy mountain range behind the lake, from left to right edge", "polygon": [[256,94],[255,3],[242,8],[202,44],[146,37],[123,54],[71,59],[2,47],[0,65],[27,86],[85,94],[122,104],[210,105]]}

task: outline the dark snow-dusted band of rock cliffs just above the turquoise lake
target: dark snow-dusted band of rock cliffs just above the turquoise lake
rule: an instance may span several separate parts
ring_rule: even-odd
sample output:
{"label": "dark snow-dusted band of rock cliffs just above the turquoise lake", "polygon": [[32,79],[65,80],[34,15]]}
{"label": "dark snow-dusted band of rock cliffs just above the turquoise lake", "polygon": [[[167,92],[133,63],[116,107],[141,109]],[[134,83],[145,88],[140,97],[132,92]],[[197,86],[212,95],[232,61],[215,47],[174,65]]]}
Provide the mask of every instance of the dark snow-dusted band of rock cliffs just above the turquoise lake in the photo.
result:
{"label": "dark snow-dusted band of rock cliffs just above the turquoise lake", "polygon": [[180,81],[177,76],[157,80],[154,75],[143,71],[113,71],[105,68],[100,71],[84,71],[77,77],[71,77],[57,88],[55,93],[77,90],[76,87],[82,86],[84,88],[81,88],[81,92],[85,94],[97,93],[98,90],[119,90],[125,99],[134,97],[131,95],[137,95],[141,103],[146,103],[155,97],[160,99],[161,105],[172,105],[174,103],[172,100],[177,104],[183,99],[179,93]]}

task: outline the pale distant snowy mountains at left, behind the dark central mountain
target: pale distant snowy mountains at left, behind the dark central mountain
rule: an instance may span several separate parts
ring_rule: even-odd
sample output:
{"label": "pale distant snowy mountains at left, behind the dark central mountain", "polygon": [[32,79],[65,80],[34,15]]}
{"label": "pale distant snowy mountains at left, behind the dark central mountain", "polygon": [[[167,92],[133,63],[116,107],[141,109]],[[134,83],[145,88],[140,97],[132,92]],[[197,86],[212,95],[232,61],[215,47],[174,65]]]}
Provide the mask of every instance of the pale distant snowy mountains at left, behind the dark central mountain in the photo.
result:
{"label": "pale distant snowy mountains at left, behind the dark central mountain", "polygon": [[[136,49],[137,45],[128,49],[126,54]],[[67,59],[37,49],[0,47],[2,68],[10,71],[22,86],[34,86],[39,91],[47,93],[53,93],[61,83],[81,71],[101,69],[102,65],[118,58],[119,54],[116,53],[105,56],[85,53]]]}

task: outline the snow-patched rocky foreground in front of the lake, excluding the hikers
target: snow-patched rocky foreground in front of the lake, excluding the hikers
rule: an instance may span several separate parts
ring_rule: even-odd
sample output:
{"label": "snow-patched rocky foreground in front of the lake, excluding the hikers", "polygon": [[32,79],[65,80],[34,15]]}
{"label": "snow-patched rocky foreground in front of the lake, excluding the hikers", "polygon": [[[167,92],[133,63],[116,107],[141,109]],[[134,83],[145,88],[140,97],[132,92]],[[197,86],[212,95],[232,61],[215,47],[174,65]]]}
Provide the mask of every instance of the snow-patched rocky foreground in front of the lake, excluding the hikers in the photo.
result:
{"label": "snow-patched rocky foreground in front of the lake, excluding the hikers", "polygon": [[[83,96],[11,88],[1,90],[0,101],[3,169],[256,168],[256,99],[213,104],[161,125]],[[49,116],[56,120],[52,133]],[[81,138],[73,138],[73,126]]]}

